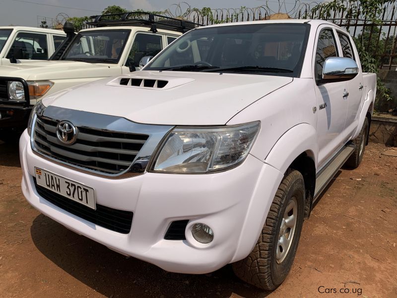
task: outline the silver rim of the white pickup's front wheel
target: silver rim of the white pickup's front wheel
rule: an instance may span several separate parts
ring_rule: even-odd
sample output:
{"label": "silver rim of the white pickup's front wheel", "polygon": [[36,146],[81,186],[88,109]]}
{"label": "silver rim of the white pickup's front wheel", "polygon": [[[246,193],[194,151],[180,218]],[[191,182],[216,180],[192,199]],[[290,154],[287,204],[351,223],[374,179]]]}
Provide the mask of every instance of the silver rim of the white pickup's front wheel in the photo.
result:
{"label": "silver rim of the white pickup's front wheel", "polygon": [[276,248],[276,261],[281,264],[288,255],[295,234],[295,228],[298,218],[298,201],[296,197],[291,197],[288,201],[287,208],[281,221],[278,232],[278,241]]}

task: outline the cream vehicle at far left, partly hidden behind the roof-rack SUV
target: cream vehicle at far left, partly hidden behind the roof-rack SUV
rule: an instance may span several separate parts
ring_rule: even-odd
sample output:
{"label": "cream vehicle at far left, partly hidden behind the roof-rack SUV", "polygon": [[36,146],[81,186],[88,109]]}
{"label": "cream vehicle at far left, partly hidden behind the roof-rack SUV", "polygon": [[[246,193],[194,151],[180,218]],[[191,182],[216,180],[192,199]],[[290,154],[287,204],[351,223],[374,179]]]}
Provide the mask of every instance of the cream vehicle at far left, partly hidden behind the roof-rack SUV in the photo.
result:
{"label": "cream vehicle at far left, partly hidden behind the roof-rack SUV", "polygon": [[6,26],[0,27],[0,65],[48,60],[66,38],[61,30]]}

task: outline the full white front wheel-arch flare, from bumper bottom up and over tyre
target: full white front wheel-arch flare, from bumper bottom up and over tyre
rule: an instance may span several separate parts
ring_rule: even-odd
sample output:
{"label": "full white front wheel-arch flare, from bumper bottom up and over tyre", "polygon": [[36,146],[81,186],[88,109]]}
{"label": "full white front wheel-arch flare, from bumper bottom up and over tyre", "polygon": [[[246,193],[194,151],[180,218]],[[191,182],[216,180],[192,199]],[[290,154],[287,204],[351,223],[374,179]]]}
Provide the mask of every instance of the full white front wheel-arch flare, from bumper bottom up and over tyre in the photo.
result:
{"label": "full white front wheel-arch flare, from bumper bottom up and over tyre", "polygon": [[253,250],[285,171],[305,151],[317,162],[316,130],[310,124],[302,123],[284,133],[267,154],[231,263],[244,259]]}

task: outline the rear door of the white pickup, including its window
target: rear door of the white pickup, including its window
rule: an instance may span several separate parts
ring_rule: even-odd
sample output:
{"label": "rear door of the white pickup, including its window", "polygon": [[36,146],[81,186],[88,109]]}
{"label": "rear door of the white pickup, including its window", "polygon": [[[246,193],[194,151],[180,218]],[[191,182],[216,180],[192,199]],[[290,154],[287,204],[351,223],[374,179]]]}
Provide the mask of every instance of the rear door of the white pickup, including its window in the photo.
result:
{"label": "rear door of the white pickup, including its window", "polygon": [[[338,40],[340,42],[340,57],[347,57],[351,58],[360,65],[358,61],[357,53],[354,53],[353,50],[353,43],[351,37],[344,33],[341,30],[336,30],[336,34],[338,36]],[[348,92],[347,98],[347,115],[346,115],[346,124],[344,128],[344,135],[343,139],[344,142],[350,140],[353,136],[354,132],[356,131],[359,117],[360,117],[360,110],[362,106],[362,98],[363,98],[363,74],[361,71],[361,67],[359,66],[359,73],[352,79],[346,81],[346,90]]]}

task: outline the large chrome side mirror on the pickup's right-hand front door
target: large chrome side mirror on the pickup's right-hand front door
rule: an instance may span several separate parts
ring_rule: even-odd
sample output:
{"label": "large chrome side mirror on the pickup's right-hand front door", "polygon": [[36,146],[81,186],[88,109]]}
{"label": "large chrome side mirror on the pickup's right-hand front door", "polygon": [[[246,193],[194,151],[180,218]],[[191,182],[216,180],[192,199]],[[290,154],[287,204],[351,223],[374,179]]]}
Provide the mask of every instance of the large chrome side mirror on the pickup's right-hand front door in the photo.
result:
{"label": "large chrome side mirror on the pickup's right-hand front door", "polygon": [[349,80],[358,74],[358,65],[346,57],[329,57],[323,66],[323,81]]}

